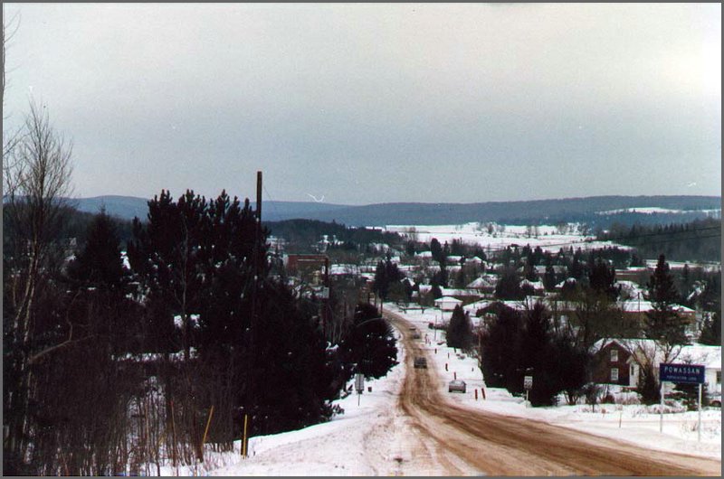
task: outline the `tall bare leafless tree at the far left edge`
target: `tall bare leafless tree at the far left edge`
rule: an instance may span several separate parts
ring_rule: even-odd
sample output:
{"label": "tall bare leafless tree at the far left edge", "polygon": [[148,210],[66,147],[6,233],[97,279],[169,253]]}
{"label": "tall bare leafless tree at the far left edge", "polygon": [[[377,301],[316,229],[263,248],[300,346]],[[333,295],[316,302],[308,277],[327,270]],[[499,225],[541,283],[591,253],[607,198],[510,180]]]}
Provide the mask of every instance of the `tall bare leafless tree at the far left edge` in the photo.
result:
{"label": "tall bare leafless tree at the far left edge", "polygon": [[24,457],[33,389],[30,358],[40,352],[33,342],[35,302],[48,279],[64,201],[71,194],[71,146],[52,127],[45,108],[31,103],[22,134],[4,160],[4,326],[12,356],[5,369],[12,369],[14,379],[5,384],[12,391],[4,396],[5,452]]}

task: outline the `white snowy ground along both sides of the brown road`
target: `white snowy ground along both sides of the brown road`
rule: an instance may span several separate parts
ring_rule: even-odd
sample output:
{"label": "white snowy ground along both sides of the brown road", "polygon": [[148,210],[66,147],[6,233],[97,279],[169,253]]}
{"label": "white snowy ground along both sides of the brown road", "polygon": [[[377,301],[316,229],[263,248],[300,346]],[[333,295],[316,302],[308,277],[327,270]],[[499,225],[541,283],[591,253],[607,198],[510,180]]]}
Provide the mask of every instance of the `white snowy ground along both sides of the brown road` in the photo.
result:
{"label": "white snowy ground along both sides of the brown road", "polygon": [[[640,405],[559,406],[530,408],[521,398],[506,390],[486,388],[477,360],[448,348],[442,332],[428,329],[435,316],[434,308],[403,313],[395,305],[385,308],[405,316],[423,333],[419,341],[430,352],[440,375],[441,394],[472,409],[503,415],[538,419],[562,427],[620,439],[650,449],[685,453],[692,456],[721,458],[721,410],[702,411],[701,441],[697,440],[697,412],[664,414],[663,432],[659,432],[659,415]],[[448,319],[446,313],[445,319]],[[250,456],[235,452],[207,454],[205,465],[179,470],[186,475],[399,475],[398,464],[405,456],[405,445],[413,441],[415,431],[405,427],[405,420],[395,409],[396,394],[405,377],[405,352],[398,352],[400,364],[385,378],[371,380],[361,396],[352,393],[337,403],[345,413],[325,424],[306,427],[265,437],[250,439]],[[431,364],[431,367],[433,366]],[[447,365],[447,371],[445,366]],[[465,380],[467,391],[448,393],[453,378]],[[367,391],[371,387],[371,391]],[[478,390],[478,399],[475,399]],[[485,391],[485,399],[482,397]],[[359,400],[359,405],[357,405]],[[173,475],[170,467],[162,474]]]}

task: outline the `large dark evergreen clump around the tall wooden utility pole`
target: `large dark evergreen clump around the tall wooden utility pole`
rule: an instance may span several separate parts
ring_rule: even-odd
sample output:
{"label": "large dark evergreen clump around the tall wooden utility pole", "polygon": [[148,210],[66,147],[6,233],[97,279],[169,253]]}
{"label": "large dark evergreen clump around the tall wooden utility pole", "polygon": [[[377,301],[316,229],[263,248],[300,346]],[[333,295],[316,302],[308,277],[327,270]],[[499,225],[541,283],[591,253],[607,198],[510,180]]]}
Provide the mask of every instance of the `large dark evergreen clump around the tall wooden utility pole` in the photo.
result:
{"label": "large dark evergreen clump around the tall wooden utility pole", "polygon": [[174,338],[173,316],[182,317],[181,341],[167,351],[181,347],[189,359],[190,347],[198,350],[196,361],[165,372],[167,401],[186,401],[191,418],[217,405],[224,440],[238,433],[239,408],[252,415],[252,434],[328,418],[329,385],[339,371],[329,369],[334,358],[312,319],[316,308],[270,277],[268,230],[260,230],[249,201],[222,192],[207,202],[189,191],[174,202],[162,192],[148,207],[148,223],[135,221],[131,267],[157,331]]}

